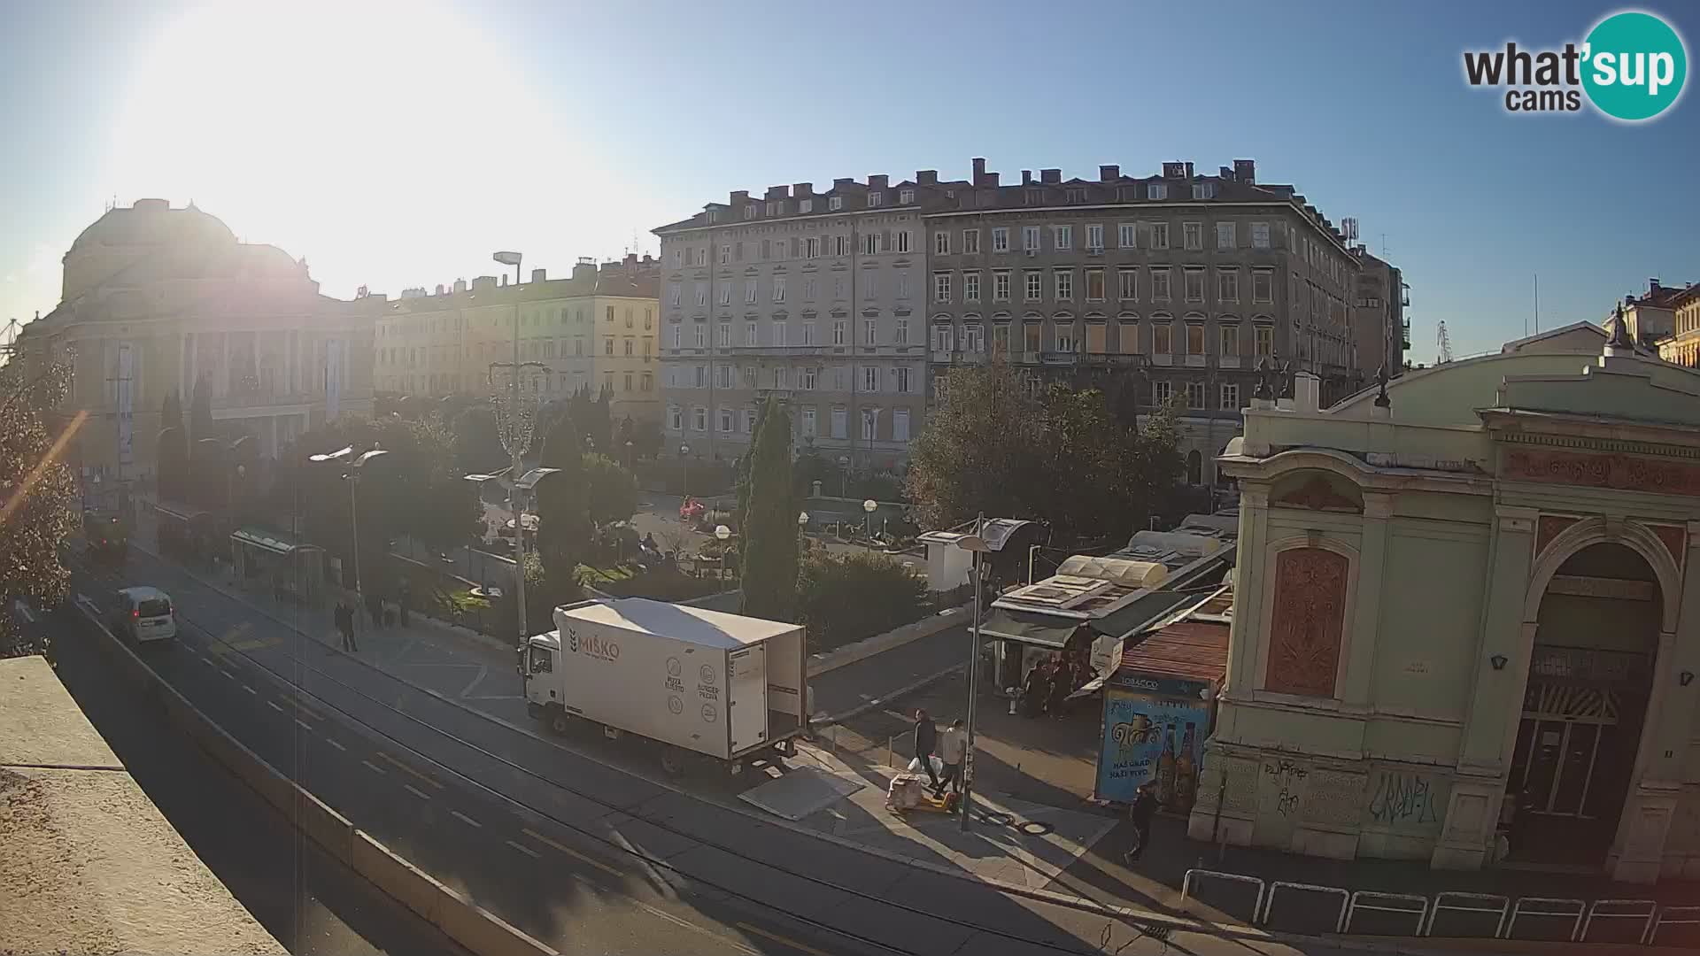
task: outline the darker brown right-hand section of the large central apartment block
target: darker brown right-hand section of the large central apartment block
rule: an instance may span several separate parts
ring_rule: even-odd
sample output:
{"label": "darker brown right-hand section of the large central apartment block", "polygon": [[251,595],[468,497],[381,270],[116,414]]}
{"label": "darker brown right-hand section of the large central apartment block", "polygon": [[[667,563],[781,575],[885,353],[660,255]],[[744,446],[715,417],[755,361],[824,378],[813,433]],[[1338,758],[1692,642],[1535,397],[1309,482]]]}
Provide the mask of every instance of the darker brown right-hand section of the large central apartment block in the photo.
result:
{"label": "darker brown right-hand section of the large central apartment block", "polygon": [[1318,374],[1324,401],[1367,381],[1357,257],[1292,185],[1258,184],[1251,160],[1216,175],[1023,170],[1003,185],[976,158],[947,185],[926,209],[935,381],[1003,350],[1035,376],[1103,386],[1124,413],[1175,401],[1193,485],[1214,485],[1261,359]]}

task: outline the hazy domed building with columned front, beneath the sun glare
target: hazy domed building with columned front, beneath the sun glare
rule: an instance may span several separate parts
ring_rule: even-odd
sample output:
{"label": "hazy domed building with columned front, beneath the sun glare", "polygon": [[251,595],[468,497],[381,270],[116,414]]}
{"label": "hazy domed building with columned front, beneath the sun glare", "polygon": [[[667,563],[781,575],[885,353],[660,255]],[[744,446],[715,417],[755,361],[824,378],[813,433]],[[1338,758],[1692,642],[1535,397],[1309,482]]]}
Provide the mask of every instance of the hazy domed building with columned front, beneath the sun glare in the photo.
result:
{"label": "hazy domed building with columned front, beneath the sun glare", "polygon": [[63,264],[60,304],[26,327],[24,347],[75,349],[66,408],[88,418],[68,461],[85,483],[153,473],[173,391],[187,413],[204,388],[219,437],[250,435],[258,456],[371,410],[376,313],[320,294],[304,260],[238,242],[194,204],[109,209]]}

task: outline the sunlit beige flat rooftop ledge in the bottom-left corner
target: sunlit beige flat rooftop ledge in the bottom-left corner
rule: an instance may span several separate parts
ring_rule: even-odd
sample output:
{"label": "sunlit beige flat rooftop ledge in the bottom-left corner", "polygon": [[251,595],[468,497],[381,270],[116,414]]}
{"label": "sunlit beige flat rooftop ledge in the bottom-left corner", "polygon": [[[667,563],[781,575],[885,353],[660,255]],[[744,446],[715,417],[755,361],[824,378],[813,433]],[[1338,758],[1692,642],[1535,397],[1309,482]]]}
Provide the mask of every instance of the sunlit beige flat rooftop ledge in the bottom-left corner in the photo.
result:
{"label": "sunlit beige flat rooftop ledge in the bottom-left corner", "polygon": [[0,660],[0,701],[7,953],[286,953],[153,806],[46,660]]}

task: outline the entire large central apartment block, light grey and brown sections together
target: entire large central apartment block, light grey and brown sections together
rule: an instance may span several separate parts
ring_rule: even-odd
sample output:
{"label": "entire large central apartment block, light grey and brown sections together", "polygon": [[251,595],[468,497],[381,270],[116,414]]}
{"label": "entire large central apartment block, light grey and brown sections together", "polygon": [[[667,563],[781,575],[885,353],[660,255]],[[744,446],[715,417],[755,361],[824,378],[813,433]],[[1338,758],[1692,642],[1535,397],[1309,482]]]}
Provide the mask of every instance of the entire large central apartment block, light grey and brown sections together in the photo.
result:
{"label": "entire large central apartment block, light grey and brown sections together", "polygon": [[1368,379],[1358,257],[1250,160],[1003,185],[976,158],[966,180],[733,192],[654,233],[663,427],[692,456],[741,454],[777,393],[801,442],[898,464],[942,373],[1001,350],[1035,378],[1105,386],[1127,415],[1178,401],[1188,478],[1209,483],[1261,357],[1316,373],[1324,401]]}

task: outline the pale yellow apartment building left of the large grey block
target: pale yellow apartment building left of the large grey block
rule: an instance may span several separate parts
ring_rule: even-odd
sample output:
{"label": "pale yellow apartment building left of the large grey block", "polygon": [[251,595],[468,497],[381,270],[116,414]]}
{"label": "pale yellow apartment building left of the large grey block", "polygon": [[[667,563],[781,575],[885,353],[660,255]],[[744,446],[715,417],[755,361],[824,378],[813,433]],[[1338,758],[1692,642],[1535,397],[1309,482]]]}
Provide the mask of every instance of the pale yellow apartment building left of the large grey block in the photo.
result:
{"label": "pale yellow apartment building left of the large grey block", "polygon": [[580,259],[568,279],[534,269],[529,282],[479,276],[435,293],[408,289],[376,299],[374,379],[379,391],[486,395],[491,364],[537,362],[544,400],[580,388],[607,390],[615,418],[660,420],[656,342],[658,264],[627,255],[598,269]]}

